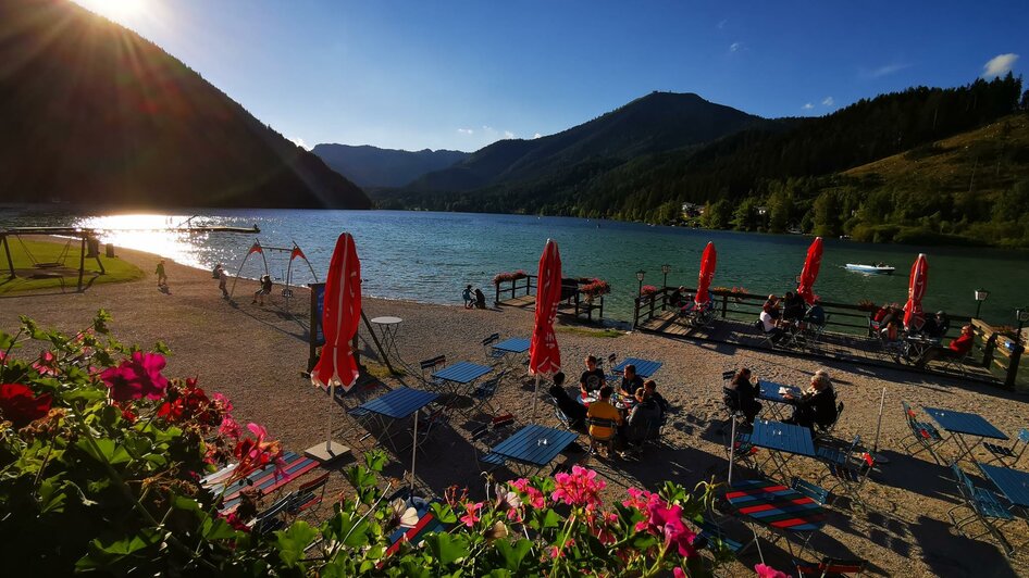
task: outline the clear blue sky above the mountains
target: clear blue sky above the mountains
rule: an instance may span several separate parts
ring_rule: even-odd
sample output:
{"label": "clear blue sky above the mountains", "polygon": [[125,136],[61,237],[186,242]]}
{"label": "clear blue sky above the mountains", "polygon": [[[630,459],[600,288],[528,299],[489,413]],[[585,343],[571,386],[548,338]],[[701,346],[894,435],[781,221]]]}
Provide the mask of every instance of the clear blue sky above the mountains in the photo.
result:
{"label": "clear blue sky above the mountains", "polygon": [[1029,2],[77,0],[307,147],[473,151],[653,90],[821,115],[1029,64]]}

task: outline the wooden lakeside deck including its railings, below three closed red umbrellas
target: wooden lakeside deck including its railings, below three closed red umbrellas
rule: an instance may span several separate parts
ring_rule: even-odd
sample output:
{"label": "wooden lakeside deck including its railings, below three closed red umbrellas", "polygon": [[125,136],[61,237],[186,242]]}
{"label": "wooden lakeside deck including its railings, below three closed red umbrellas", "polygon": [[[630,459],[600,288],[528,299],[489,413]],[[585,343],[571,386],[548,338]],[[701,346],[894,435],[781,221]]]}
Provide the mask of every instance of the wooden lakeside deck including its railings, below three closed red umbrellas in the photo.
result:
{"label": "wooden lakeside deck including its railings, below three closed red umbrellas", "polygon": [[[827,313],[827,323],[826,331],[817,342],[801,342],[793,347],[782,347],[768,343],[765,340],[764,331],[755,326],[761,304],[767,296],[712,290],[715,321],[704,327],[694,327],[687,318],[679,315],[675,307],[668,304],[668,296],[672,290],[673,288],[666,287],[656,293],[636,298],[633,327],[641,331],[664,335],[674,339],[774,351],[788,356],[814,357],[959,377],[967,380],[1000,385],[1008,389],[1015,388],[1018,356],[1020,355],[1019,349],[1014,345],[1006,345],[1004,341],[1006,338],[1003,337],[1000,338],[999,342],[999,334],[992,331],[992,328],[985,326],[979,319],[951,316],[951,335],[942,341],[947,343],[950,338],[956,337],[962,325],[972,322],[977,334],[977,349],[974,349],[974,361],[969,361],[960,369],[946,366],[939,361],[931,362],[926,367],[920,368],[913,364],[913,360],[896,355],[896,352],[884,345],[878,337],[869,335],[868,313],[861,311],[857,305],[821,302]],[[997,374],[1001,374],[1001,376],[997,376]]]}

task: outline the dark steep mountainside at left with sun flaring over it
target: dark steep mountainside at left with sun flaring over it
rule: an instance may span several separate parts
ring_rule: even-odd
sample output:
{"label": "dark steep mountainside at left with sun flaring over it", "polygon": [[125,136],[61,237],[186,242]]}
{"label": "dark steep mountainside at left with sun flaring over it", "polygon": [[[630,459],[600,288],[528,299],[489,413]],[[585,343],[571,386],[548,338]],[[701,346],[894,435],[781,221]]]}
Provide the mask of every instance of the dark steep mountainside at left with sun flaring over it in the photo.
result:
{"label": "dark steep mountainside at left with sun flaring over it", "polygon": [[0,2],[0,126],[5,201],[371,205],[182,62],[66,0]]}

